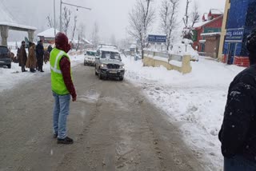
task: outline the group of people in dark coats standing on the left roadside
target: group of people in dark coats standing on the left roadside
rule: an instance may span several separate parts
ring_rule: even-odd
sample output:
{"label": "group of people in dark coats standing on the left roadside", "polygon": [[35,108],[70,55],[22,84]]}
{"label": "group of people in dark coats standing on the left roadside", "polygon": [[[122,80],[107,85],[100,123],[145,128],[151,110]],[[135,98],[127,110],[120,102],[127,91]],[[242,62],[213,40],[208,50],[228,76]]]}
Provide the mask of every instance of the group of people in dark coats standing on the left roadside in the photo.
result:
{"label": "group of people in dark coats standing on the left roadside", "polygon": [[[52,48],[48,48],[48,50],[52,50]],[[25,68],[29,68],[31,73],[36,72],[36,69],[40,72],[44,72],[42,70],[44,54],[45,51],[42,45],[42,40],[38,42],[37,46],[30,42],[28,55],[26,54],[26,42],[22,41],[22,46],[17,53],[19,66],[22,67],[22,72],[27,71]]]}

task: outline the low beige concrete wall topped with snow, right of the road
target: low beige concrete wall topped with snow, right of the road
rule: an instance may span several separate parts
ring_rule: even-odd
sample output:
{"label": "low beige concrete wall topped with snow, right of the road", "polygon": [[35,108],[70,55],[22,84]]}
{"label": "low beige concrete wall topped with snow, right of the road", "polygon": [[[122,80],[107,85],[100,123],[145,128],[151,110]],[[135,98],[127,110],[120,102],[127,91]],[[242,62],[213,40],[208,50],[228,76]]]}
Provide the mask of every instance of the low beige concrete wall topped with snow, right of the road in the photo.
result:
{"label": "low beige concrete wall topped with snow, right of the road", "polygon": [[164,66],[167,70],[177,70],[182,74],[188,74],[192,71],[190,58],[190,55],[179,56],[174,54],[145,51],[142,62],[143,66]]}

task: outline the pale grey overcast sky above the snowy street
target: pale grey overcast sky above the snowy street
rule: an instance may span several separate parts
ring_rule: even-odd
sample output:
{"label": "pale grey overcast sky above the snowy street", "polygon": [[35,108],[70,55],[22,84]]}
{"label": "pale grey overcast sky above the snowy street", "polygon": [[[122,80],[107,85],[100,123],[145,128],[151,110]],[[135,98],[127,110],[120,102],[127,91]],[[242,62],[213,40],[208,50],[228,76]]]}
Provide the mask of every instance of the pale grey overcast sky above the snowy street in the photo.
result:
{"label": "pale grey overcast sky above the snowy street", "polygon": [[[47,29],[46,16],[53,17],[54,0],[1,0],[1,8],[6,9],[11,16],[21,24],[35,26],[38,31]],[[59,14],[60,0],[56,1],[56,11]],[[86,36],[90,37],[94,22],[98,23],[100,36],[107,40],[112,34],[117,39],[126,38],[126,27],[128,26],[128,13],[133,8],[136,0],[63,0],[80,6],[92,8],[92,10],[77,11],[74,7],[69,7],[73,14],[78,15],[78,22],[86,26]],[[195,0],[190,0],[193,3]],[[200,14],[209,12],[210,8],[224,9],[225,0],[196,0],[198,2]],[[154,8],[159,9],[161,0],[154,0]],[[190,5],[192,8],[192,4]],[[186,0],[180,0],[179,18],[185,14]],[[158,11],[157,13],[158,14]],[[155,22],[154,32],[158,32],[158,21]],[[14,34],[10,32],[10,35]],[[17,34],[14,34],[17,37]],[[14,36],[13,36],[14,37]]]}

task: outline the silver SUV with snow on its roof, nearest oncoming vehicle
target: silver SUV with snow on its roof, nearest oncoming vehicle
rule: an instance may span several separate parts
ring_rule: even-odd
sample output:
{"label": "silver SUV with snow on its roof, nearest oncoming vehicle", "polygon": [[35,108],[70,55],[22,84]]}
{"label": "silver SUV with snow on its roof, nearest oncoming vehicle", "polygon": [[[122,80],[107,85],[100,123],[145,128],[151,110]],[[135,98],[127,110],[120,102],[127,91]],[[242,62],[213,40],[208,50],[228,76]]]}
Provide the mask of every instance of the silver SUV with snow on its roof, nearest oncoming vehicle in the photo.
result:
{"label": "silver SUV with snow on its roof, nearest oncoming vehicle", "polygon": [[120,81],[123,80],[125,68],[117,49],[100,48],[95,63],[95,75],[98,75],[99,79],[119,78]]}

